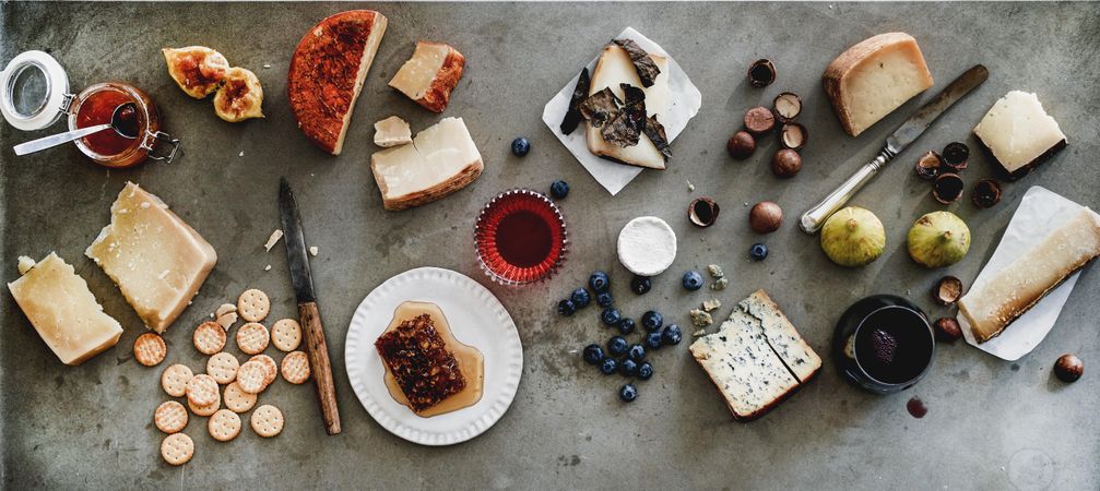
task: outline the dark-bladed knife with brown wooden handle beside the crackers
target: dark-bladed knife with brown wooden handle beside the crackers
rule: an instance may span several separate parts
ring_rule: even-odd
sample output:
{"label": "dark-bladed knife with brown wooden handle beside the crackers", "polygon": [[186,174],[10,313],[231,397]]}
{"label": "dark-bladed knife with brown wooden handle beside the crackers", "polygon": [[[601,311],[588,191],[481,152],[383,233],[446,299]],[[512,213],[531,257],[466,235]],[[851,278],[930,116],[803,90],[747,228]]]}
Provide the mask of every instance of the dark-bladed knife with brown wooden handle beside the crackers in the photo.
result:
{"label": "dark-bladed knife with brown wooden handle beside the crackers", "polygon": [[321,314],[317,310],[317,294],[314,278],[309,272],[309,256],[306,253],[306,237],[301,232],[298,203],[294,200],[290,183],[279,179],[278,211],[283,222],[283,243],[286,245],[286,263],[290,269],[290,284],[298,299],[298,317],[306,337],[306,355],[309,370],[317,389],[317,402],[321,405],[321,420],[329,435],[340,433],[340,410],[337,408],[337,390],[332,382],[332,365],[329,362],[329,347],[324,343]]}

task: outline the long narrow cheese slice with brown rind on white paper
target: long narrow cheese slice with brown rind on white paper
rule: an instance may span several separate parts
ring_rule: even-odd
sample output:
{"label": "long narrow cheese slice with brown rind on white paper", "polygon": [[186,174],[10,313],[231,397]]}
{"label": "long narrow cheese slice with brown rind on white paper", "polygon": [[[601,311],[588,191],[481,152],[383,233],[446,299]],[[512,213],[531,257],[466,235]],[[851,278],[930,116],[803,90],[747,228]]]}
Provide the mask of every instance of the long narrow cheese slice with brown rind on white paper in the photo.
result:
{"label": "long narrow cheese slice with brown rind on white paper", "polygon": [[1084,208],[1037,246],[959,299],[978,343],[1001,334],[1074,271],[1100,256],[1100,219]]}

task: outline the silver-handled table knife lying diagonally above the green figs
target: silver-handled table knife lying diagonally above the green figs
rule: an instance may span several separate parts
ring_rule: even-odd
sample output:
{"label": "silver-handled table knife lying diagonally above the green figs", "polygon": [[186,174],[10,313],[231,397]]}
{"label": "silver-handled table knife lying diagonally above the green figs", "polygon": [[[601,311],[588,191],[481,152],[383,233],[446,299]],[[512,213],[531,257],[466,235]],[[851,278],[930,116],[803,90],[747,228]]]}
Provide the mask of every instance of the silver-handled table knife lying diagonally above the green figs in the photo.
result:
{"label": "silver-handled table knife lying diagonally above the green figs", "polygon": [[980,86],[986,79],[989,78],[989,70],[982,65],[975,65],[969,70],[966,70],[952,81],[947,88],[939,92],[931,102],[924,104],[923,108],[916,111],[909,121],[902,123],[887,138],[886,146],[879,150],[879,155],[875,157],[873,160],[864,164],[859,170],[856,171],[848,180],[844,181],[839,188],[836,188],[831,192],[825,199],[820,203],[815,204],[809,211],[802,214],[799,220],[799,224],[802,226],[802,231],[807,234],[817,233],[822,225],[825,224],[833,213],[836,213],[840,207],[851,199],[853,196],[859,191],[868,181],[879,174],[886,167],[890,159],[894,158],[898,154],[905,149],[911,143],[916,141],[925,130],[936,121],[941,114],[943,114],[947,109],[954,105],[959,99],[969,93],[976,87]]}

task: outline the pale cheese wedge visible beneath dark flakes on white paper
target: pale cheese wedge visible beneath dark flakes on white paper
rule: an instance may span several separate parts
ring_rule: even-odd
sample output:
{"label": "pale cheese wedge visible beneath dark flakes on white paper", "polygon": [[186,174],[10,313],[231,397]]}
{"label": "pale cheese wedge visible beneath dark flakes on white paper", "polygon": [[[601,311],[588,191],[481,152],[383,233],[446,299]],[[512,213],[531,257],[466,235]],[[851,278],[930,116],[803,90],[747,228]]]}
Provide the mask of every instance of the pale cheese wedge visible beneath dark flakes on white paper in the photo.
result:
{"label": "pale cheese wedge visible beneath dark flakes on white paper", "polygon": [[[646,92],[646,114],[657,115],[658,121],[661,121],[662,116],[667,114],[669,100],[669,59],[652,53],[649,54],[649,57],[653,58],[653,63],[657,64],[661,74],[653,80],[652,86],[642,87],[641,79],[638,78],[638,70],[630,63],[630,56],[626,49],[615,44],[608,45],[600,55],[600,60],[596,62],[596,69],[592,74],[592,83],[588,86],[588,96],[610,88],[619,100],[625,100],[619,83],[628,83]],[[645,135],[638,140],[637,145],[623,147],[604,141],[600,129],[591,123],[587,124],[587,129],[588,150],[593,154],[623,164],[652,169],[664,168],[664,156],[657,149],[657,145],[653,145],[653,142]]]}

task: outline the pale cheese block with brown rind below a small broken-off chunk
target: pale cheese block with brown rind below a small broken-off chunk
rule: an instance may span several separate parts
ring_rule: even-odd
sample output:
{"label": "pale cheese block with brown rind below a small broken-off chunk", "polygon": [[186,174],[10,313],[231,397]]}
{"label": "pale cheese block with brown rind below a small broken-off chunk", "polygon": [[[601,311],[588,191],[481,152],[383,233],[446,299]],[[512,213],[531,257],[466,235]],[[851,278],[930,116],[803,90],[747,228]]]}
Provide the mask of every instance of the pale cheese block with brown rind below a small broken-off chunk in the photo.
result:
{"label": "pale cheese block with brown rind below a small broken-off chunk", "polygon": [[444,118],[409,145],[376,152],[371,170],[386,210],[436,201],[481,176],[481,153],[461,118]]}

